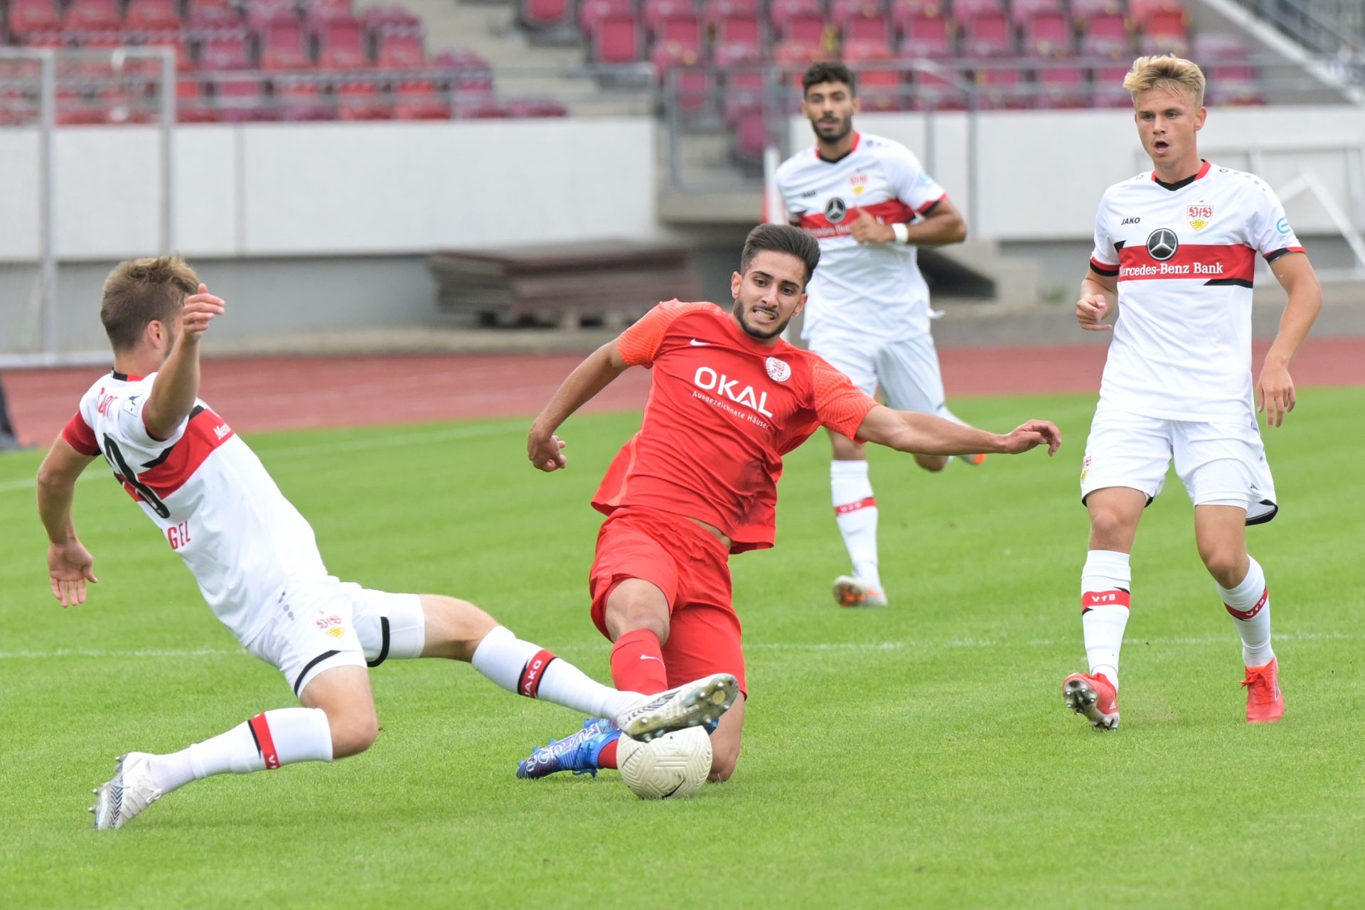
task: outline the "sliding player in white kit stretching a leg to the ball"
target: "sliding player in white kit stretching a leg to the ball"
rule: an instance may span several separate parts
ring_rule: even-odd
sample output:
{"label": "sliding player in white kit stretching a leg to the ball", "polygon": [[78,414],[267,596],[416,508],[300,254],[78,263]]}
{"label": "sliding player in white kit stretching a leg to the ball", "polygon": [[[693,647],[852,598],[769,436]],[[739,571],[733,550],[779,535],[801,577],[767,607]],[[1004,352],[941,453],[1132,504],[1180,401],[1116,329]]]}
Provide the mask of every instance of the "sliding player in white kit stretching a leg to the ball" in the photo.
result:
{"label": "sliding player in white kit stretching a leg to the ball", "polygon": [[232,427],[198,398],[199,337],[224,303],[177,256],[120,263],[100,318],[113,372],[38,471],[52,593],[85,602],[93,558],[71,520],[75,482],[100,454],[194,573],[218,619],[276,666],[304,707],[274,708],[171,754],[120,756],[96,790],[96,828],[119,828],[167,793],[228,771],[330,761],[378,733],[367,667],[386,658],[467,660],[495,684],[591,716],[632,737],[710,723],[733,703],[734,677],[715,674],[658,696],[617,692],[528,641],[471,603],[388,593],[328,574],[313,528]]}

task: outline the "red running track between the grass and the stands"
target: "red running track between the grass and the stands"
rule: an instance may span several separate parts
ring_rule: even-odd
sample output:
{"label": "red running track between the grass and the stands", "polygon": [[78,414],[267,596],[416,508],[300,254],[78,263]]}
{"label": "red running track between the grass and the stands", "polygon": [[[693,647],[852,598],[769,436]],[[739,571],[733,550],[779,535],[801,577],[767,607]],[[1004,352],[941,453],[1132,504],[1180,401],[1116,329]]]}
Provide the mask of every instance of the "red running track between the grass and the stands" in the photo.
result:
{"label": "red running track between the grass and the stands", "polygon": [[[1256,345],[1260,363],[1267,342]],[[1104,345],[939,351],[949,397],[1097,392]],[[579,355],[423,355],[209,359],[202,397],[243,431],[358,427],[468,417],[530,417]],[[100,367],[4,374],[23,439],[46,445],[104,372]],[[1365,385],[1365,338],[1310,338],[1294,360],[1299,386]],[[650,374],[628,370],[584,411],[640,408]]]}

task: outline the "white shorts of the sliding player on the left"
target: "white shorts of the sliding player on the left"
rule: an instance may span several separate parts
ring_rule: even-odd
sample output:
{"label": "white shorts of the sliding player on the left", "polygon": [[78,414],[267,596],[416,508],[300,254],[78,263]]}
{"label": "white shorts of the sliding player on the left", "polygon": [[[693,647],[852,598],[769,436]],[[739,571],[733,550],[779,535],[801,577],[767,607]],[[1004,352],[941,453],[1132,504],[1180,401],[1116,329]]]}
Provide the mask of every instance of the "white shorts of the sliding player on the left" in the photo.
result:
{"label": "white shorts of the sliding player on the left", "polygon": [[418,595],[371,591],[330,576],[285,583],[269,610],[270,622],[246,648],[277,667],[296,696],[324,670],[419,658],[426,643]]}

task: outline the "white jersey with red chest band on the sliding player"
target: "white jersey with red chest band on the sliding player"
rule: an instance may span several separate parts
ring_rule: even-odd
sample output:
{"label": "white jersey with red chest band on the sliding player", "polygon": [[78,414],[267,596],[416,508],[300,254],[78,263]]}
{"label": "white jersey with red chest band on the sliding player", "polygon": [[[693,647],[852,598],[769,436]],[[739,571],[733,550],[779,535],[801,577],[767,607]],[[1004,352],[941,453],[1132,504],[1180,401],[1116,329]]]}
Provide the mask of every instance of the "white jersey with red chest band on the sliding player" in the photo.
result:
{"label": "white jersey with red chest band on the sliding player", "polygon": [[194,573],[213,613],[250,643],[272,618],[266,607],[285,581],[328,576],[313,528],[202,401],[167,439],[153,438],[142,409],[154,378],[102,377],[61,435],[76,452],[104,454]]}

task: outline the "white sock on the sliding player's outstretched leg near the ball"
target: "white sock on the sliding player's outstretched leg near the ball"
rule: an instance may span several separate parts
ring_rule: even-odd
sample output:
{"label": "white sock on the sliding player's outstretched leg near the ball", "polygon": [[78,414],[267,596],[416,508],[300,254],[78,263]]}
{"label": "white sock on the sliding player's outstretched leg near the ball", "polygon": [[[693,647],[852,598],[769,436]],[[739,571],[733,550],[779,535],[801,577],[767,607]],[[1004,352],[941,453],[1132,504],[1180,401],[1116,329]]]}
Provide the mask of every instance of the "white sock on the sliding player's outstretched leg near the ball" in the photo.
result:
{"label": "white sock on the sliding player's outstretched leg near the ball", "polygon": [[614,720],[640,697],[591,679],[541,645],[521,641],[506,626],[483,636],[470,663],[508,692],[553,701],[592,718]]}

